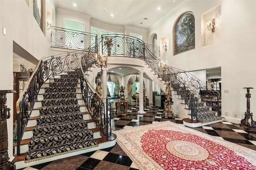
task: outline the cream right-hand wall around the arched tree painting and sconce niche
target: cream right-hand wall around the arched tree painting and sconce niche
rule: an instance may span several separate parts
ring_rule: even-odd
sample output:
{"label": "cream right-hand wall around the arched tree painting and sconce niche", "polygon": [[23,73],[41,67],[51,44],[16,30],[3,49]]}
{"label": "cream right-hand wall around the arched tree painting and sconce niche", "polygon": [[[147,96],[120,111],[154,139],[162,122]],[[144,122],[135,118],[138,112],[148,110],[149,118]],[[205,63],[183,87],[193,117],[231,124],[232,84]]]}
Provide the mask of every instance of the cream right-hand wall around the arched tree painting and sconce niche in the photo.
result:
{"label": "cream right-hand wall around the arched tree painting and sconce niche", "polygon": [[[219,41],[203,46],[201,31],[202,14],[221,5],[221,38]],[[222,78],[222,113],[228,112],[225,120],[240,123],[246,111],[246,90],[250,90],[252,97],[251,111],[255,112],[256,105],[256,22],[252,21],[256,15],[256,1],[254,0],[191,0],[184,1],[161,24],[148,29],[148,37],[156,33],[163,37],[169,33],[168,60],[171,66],[182,70],[201,70],[205,68],[221,67]],[[173,25],[180,14],[192,11],[195,16],[196,48],[173,56]],[[159,44],[160,45],[160,44]],[[229,90],[224,93],[224,90]],[[234,117],[237,114],[237,117]],[[222,114],[224,115],[224,114]]]}

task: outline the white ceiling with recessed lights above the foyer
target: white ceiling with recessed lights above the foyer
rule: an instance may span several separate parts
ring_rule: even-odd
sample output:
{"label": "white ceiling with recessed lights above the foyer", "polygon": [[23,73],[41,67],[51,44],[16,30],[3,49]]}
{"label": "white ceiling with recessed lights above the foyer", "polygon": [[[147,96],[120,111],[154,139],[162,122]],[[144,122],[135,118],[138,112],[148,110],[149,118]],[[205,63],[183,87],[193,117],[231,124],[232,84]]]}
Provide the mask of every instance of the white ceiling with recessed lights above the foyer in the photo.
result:
{"label": "white ceiling with recessed lights above the foyer", "polygon": [[[183,0],[55,0],[57,8],[86,14],[111,25],[148,29]],[[76,4],[74,6],[73,4]],[[158,10],[160,8],[160,10]],[[113,14],[113,16],[111,16]],[[147,18],[145,20],[144,18]]]}

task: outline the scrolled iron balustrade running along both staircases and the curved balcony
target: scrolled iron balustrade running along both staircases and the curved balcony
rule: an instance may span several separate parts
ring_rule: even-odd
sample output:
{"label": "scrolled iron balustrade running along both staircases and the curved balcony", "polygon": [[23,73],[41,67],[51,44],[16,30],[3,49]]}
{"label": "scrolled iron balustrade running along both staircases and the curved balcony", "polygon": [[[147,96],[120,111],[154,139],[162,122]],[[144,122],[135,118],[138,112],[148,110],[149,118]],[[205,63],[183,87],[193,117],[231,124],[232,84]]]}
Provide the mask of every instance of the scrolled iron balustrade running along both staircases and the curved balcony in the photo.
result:
{"label": "scrolled iron balustrade running along both staircases and the curved balcony", "polygon": [[[158,77],[169,81],[192,111],[191,119],[196,119],[196,103],[201,98],[200,90],[205,90],[206,84],[198,80],[189,72],[167,66],[163,71],[159,68],[160,48],[145,44],[142,40],[128,35],[102,35],[99,40],[93,41],[90,37],[86,42],[90,45],[86,50],[64,53],[42,59],[33,72],[25,90],[16,103],[17,108],[17,145],[20,154],[20,141],[26,129],[32,108],[37,100],[40,87],[46,80],[64,71],[81,69],[80,86],[84,103],[102,134],[106,137],[111,135],[110,115],[108,115],[109,102],[102,98],[85,77],[85,72],[95,64],[95,55],[99,51],[102,55],[115,55],[122,57],[136,57],[143,59]],[[90,40],[90,41],[89,41]],[[84,40],[83,40],[84,41]],[[64,46],[65,48],[69,48]],[[154,48],[153,48],[154,47]],[[77,48],[77,47],[76,47]],[[82,48],[82,47],[81,47]],[[158,50],[159,49],[159,50]],[[219,93],[216,93],[216,100]],[[214,103],[214,102],[212,102]]]}

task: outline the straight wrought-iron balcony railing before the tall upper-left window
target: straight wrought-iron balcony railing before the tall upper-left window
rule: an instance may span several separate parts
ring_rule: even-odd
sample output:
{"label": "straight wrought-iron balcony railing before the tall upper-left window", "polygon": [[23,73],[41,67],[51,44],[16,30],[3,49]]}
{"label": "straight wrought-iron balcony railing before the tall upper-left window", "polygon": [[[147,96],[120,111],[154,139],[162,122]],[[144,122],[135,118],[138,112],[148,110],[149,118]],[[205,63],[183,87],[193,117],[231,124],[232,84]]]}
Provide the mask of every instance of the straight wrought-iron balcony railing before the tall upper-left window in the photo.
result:
{"label": "straight wrought-iron balcony railing before the tall upper-left window", "polygon": [[97,41],[97,34],[51,26],[51,47],[87,49]]}

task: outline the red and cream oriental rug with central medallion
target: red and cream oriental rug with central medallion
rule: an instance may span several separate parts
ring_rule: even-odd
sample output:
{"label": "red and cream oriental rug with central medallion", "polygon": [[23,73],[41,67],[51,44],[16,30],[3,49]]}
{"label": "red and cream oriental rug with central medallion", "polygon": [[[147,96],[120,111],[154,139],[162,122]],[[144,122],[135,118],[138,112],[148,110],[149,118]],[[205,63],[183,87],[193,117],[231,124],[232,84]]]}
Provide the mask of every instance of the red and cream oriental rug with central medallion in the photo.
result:
{"label": "red and cream oriental rug with central medallion", "polygon": [[114,131],[140,170],[256,170],[256,151],[172,123]]}

